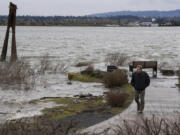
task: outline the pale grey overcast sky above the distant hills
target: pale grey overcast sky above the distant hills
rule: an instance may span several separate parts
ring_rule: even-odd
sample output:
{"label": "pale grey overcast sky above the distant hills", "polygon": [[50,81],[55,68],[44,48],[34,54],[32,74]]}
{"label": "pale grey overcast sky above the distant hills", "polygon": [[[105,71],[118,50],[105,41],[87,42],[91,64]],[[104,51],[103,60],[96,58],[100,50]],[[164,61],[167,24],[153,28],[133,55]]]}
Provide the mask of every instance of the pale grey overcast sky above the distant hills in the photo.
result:
{"label": "pale grey overcast sky above the distant hills", "polygon": [[18,15],[87,15],[122,10],[180,9],[180,0],[0,0],[0,15],[12,1]]}

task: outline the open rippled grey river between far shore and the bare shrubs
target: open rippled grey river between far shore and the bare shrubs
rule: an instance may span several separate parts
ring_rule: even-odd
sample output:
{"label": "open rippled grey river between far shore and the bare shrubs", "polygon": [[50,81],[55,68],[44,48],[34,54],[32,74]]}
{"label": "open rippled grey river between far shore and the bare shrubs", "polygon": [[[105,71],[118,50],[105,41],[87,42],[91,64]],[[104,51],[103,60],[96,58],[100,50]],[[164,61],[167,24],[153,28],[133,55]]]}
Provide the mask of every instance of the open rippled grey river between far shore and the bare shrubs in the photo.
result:
{"label": "open rippled grey river between far shore and the bare shrubs", "polygon": [[[6,27],[0,27],[3,43]],[[17,27],[20,56],[45,53],[66,62],[103,62],[110,52],[123,52],[133,59],[178,60],[180,27]]]}

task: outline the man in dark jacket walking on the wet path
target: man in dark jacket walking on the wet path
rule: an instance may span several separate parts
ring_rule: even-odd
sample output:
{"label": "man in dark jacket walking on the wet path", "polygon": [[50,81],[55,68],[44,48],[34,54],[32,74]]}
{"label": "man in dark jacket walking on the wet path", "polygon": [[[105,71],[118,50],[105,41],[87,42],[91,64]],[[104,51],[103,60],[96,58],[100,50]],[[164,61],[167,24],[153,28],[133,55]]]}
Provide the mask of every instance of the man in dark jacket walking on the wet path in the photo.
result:
{"label": "man in dark jacket walking on the wet path", "polygon": [[144,96],[145,89],[150,84],[149,75],[142,71],[142,66],[138,65],[136,67],[136,72],[132,74],[131,85],[135,89],[135,101],[137,103],[137,111],[142,113],[144,110]]}

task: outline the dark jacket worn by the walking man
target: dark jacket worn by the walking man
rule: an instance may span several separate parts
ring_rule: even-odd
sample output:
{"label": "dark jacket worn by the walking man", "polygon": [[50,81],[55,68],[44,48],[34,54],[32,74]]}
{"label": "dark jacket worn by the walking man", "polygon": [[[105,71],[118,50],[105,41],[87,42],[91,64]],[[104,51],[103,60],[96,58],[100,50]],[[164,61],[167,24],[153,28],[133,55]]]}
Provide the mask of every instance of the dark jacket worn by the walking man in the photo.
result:
{"label": "dark jacket worn by the walking man", "polygon": [[132,74],[132,80],[131,85],[135,88],[137,91],[145,90],[146,87],[148,87],[150,84],[150,78],[149,75],[142,71],[140,73],[134,72]]}

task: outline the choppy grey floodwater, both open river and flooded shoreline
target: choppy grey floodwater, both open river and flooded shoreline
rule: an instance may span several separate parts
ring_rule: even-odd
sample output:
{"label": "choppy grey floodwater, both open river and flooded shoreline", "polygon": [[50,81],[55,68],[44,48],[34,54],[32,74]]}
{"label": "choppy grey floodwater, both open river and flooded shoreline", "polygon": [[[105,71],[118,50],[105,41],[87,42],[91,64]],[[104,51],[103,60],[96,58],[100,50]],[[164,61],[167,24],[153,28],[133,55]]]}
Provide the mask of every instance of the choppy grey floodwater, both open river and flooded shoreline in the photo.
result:
{"label": "choppy grey floodwater, both open river and flooded shoreline", "polygon": [[[5,32],[6,27],[0,27],[0,50]],[[95,68],[106,70],[105,56],[115,52],[127,54],[131,61],[167,62],[170,69],[177,69],[180,65],[180,27],[17,27],[16,33],[18,56],[24,57],[32,65],[48,53],[52,62],[68,65],[69,72],[81,71],[83,68],[74,65],[82,61],[92,62]],[[66,74],[50,74],[44,78],[45,82],[30,91],[22,91],[11,85],[0,86],[0,120],[33,116],[40,114],[44,107],[55,105],[29,104],[33,99],[71,97],[81,93],[102,95],[107,91],[99,83],[73,82],[73,85],[67,85]],[[158,78],[152,80],[153,88],[170,88],[176,98],[180,97],[175,86],[176,76],[166,77],[158,73]]]}

